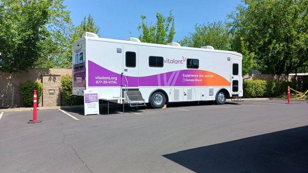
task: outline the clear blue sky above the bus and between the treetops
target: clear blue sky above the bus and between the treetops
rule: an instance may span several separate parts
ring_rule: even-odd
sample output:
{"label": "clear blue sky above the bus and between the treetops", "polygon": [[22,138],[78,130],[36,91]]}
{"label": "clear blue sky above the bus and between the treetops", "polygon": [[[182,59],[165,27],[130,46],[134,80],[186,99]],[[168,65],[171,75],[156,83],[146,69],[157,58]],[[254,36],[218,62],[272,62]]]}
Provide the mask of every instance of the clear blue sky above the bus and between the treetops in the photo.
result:
{"label": "clear blue sky above the bus and between the treetops", "polygon": [[[156,12],[168,15],[173,10],[176,35],[174,41],[180,41],[196,24],[224,21],[228,13],[234,11],[240,0],[216,1],[100,1],[100,0],[66,0],[65,5],[71,11],[74,25],[80,25],[84,16],[91,14],[100,27],[100,36],[110,39],[127,39],[139,36],[137,26],[141,15],[155,24]],[[130,33],[131,32],[131,33]]]}

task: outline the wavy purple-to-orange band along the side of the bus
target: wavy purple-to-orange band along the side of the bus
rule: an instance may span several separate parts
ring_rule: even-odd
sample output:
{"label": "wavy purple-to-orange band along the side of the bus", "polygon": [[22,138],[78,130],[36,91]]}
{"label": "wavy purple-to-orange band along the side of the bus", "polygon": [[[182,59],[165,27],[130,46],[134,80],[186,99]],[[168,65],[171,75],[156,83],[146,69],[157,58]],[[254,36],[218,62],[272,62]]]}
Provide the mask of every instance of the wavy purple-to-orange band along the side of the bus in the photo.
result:
{"label": "wavy purple-to-orange band along the side of the bus", "polygon": [[[222,76],[205,70],[185,69],[149,76],[125,76],[88,61],[89,86],[229,86]],[[142,75],[139,72],[139,75]]]}

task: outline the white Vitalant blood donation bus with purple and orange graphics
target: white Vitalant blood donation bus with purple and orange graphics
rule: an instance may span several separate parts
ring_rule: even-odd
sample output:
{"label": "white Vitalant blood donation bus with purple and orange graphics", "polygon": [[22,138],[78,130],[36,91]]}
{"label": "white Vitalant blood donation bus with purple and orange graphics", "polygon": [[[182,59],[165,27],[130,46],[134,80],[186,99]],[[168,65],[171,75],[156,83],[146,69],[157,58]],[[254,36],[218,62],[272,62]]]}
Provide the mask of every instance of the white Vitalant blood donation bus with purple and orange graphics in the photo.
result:
{"label": "white Vitalant blood donation bus with purple and orange graphics", "polygon": [[[86,32],[73,44],[73,94],[126,98],[130,106],[216,101],[242,97],[242,55],[237,52],[104,39]],[[122,101],[119,101],[119,103]]]}

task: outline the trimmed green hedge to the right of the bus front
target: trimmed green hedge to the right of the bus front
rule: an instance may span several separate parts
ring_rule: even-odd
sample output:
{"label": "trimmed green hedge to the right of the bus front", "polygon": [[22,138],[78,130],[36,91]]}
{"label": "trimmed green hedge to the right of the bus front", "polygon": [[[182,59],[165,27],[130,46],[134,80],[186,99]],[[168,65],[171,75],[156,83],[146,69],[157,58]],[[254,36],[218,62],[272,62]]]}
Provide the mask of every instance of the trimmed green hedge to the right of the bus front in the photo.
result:
{"label": "trimmed green hedge to the right of the bus front", "polygon": [[[243,96],[244,98],[286,98],[287,86],[302,92],[308,89],[307,85],[301,83],[245,80],[243,83]],[[294,92],[292,96],[296,97]]]}

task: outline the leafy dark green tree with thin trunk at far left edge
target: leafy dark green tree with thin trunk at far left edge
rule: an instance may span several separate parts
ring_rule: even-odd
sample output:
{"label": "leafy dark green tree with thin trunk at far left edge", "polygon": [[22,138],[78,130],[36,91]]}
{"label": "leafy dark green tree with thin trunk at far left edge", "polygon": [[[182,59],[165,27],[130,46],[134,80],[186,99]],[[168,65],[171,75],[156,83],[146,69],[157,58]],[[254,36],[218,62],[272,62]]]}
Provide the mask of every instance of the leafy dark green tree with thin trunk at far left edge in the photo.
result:
{"label": "leafy dark green tree with thin trunk at far left edge", "polygon": [[16,73],[27,71],[42,57],[48,31],[46,24],[50,17],[50,1],[0,1],[0,71],[12,74],[12,101]]}

